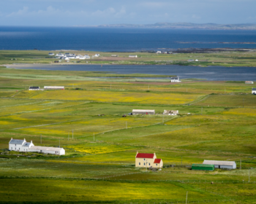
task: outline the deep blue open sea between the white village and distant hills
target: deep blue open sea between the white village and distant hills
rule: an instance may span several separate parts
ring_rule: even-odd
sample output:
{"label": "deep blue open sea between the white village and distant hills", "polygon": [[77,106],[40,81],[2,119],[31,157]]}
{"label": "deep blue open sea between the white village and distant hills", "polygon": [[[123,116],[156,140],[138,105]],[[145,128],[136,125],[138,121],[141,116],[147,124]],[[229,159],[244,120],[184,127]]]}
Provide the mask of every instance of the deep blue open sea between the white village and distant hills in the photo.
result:
{"label": "deep blue open sea between the white village and distant hills", "polygon": [[178,48],[256,48],[256,31],[151,28],[0,27],[0,50],[133,52]]}

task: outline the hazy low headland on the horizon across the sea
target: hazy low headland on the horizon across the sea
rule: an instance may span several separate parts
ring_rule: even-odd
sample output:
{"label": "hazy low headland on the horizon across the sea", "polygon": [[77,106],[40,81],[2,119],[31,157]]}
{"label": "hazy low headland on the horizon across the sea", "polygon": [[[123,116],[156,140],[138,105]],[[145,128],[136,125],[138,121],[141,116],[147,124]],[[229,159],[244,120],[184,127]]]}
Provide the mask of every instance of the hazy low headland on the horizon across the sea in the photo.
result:
{"label": "hazy low headland on the horizon across the sea", "polygon": [[[83,27],[83,26],[81,26]],[[87,26],[84,26],[87,27]],[[217,23],[154,23],[154,24],[105,24],[88,26],[97,28],[173,28],[206,30],[256,30],[256,23],[217,24]]]}

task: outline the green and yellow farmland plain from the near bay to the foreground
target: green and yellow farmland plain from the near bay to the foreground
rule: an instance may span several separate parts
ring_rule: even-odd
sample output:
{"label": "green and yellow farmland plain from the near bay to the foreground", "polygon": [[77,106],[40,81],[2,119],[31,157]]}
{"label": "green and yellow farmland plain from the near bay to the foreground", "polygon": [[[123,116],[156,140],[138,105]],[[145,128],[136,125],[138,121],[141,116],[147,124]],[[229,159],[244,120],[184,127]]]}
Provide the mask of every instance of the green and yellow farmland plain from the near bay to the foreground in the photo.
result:
{"label": "green and yellow farmland plain from the near bay to the foreground", "polygon": [[[0,68],[0,203],[186,203],[187,193],[188,203],[256,203],[253,85],[99,76]],[[28,90],[49,84],[66,90]],[[10,138],[60,145],[66,155],[10,152]],[[164,168],[135,168],[136,152],[155,152]],[[191,170],[203,160],[237,169]]]}

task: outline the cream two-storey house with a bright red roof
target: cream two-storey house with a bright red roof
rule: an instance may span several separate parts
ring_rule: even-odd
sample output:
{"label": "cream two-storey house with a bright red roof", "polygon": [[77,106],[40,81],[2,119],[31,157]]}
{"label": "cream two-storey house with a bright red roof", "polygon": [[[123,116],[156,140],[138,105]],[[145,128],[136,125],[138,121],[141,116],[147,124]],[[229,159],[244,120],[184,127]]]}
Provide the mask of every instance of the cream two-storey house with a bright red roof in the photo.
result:
{"label": "cream two-storey house with a bright red roof", "polygon": [[162,168],[162,159],[157,159],[156,153],[147,154],[137,152],[135,157],[135,167],[141,168]]}

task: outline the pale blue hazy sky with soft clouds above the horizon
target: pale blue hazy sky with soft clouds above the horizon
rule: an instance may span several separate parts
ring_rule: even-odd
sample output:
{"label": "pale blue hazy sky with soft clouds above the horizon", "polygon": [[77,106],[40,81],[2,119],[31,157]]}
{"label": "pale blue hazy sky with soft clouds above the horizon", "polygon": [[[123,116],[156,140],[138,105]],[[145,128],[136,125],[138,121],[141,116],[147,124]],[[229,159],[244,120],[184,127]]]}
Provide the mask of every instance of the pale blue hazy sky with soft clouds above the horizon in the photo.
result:
{"label": "pale blue hazy sky with soft clouds above the horizon", "polygon": [[256,23],[256,0],[0,0],[0,26]]}

